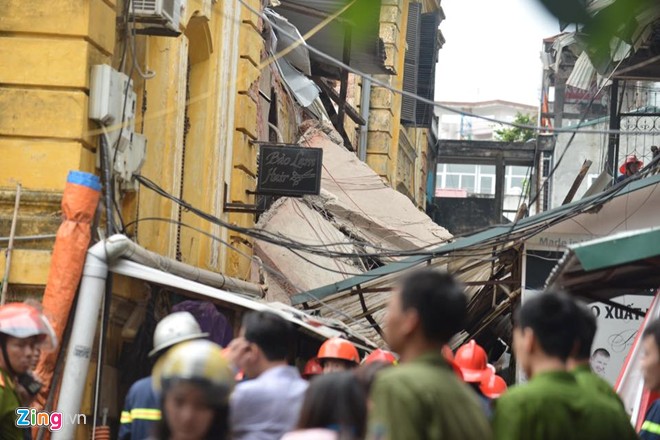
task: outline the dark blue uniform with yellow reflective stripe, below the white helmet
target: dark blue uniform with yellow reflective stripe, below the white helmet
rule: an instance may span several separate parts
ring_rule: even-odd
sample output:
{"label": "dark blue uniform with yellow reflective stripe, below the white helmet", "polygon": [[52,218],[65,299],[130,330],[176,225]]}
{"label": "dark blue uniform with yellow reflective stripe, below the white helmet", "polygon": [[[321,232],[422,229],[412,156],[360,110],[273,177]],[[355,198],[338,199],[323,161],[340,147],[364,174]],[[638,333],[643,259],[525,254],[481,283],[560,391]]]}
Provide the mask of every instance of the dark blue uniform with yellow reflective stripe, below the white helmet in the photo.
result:
{"label": "dark blue uniform with yellow reflective stripe, below the white helmet", "polygon": [[151,376],[138,380],[126,395],[121,412],[119,440],[148,438],[160,418],[160,401],[153,389]]}

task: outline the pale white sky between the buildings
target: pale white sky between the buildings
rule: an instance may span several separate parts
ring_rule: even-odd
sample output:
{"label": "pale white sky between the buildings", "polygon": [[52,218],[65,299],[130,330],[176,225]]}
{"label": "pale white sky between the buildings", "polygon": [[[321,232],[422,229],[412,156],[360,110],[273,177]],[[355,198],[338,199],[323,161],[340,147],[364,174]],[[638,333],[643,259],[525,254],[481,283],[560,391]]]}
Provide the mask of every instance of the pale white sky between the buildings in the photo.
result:
{"label": "pale white sky between the buildings", "polygon": [[538,0],[442,0],[447,40],[438,55],[437,101],[503,99],[538,105],[543,39],[559,24]]}

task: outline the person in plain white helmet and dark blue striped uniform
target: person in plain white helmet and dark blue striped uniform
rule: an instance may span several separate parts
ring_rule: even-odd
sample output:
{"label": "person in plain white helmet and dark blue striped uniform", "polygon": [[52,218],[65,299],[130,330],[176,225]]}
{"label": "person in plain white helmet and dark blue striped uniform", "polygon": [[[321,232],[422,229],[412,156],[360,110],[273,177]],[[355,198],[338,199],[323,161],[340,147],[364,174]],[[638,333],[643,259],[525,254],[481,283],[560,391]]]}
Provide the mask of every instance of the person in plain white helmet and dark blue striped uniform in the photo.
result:
{"label": "person in plain white helmet and dark blue striped uniform", "polygon": [[[154,331],[154,348],[149,357],[157,359],[175,345],[206,338],[189,312],[176,312],[163,318]],[[150,437],[161,418],[160,399],[152,386],[151,376],[135,382],[128,390],[121,412],[119,440],[142,440]]]}

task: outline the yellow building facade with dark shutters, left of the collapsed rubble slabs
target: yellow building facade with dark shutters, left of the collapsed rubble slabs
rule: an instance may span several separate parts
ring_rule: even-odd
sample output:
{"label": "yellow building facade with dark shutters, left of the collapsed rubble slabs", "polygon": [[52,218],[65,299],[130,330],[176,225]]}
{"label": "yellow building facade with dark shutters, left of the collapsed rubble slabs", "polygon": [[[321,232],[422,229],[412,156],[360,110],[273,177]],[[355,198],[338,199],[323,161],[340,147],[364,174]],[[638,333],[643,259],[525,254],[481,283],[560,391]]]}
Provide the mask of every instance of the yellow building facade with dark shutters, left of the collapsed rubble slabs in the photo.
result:
{"label": "yellow building facade with dark shutters, left of the collapsed rubble slabs", "polygon": [[[134,114],[131,130],[146,139],[139,175],[224,222],[244,228],[255,225],[253,212],[228,206],[260,202],[255,194],[259,144],[295,144],[303,121],[332,119],[330,107],[324,110],[318,98],[329,92],[319,90],[307,106],[297,100],[287,82],[291,77],[280,64],[284,55],[274,50],[276,29],[264,19],[266,3],[174,2],[181,6],[173,11],[177,23],[167,28],[137,19],[138,2],[0,0],[3,249],[14,217],[17,184],[21,185],[17,239],[7,276],[9,301],[39,298],[43,293],[68,172],[102,175],[103,130],[89,118],[94,95],[90,72],[96,65],[109,65],[132,80],[136,104],[128,109]],[[274,10],[287,17],[284,7],[295,9],[295,3],[284,1]],[[383,56],[376,79],[432,99],[436,55],[443,42],[439,3],[378,2],[374,38]],[[362,69],[358,58],[348,59],[349,66],[372,74]],[[337,85],[332,83],[338,79],[335,72],[312,75],[317,65],[314,59],[310,64],[309,78],[325,75]],[[419,103],[413,106],[377,84],[366,88],[358,75],[349,78],[345,101],[366,123],[347,120],[346,139],[353,140],[355,154],[379,176],[423,209],[429,164],[434,163],[432,110]],[[363,93],[368,95],[365,99]],[[122,120],[106,127],[110,134],[128,130],[126,114],[124,106]],[[115,154],[113,167],[116,158]],[[124,183],[115,177],[110,184],[116,230],[104,230],[106,210],[99,209],[93,225],[97,238],[122,232],[150,251],[194,267],[246,280],[259,276],[253,271],[252,238],[203,220],[145,186]],[[4,272],[2,252],[0,278]],[[106,357],[115,375],[120,375],[119,356],[126,342],[122,328],[136,306],[142,307],[148,290],[144,283],[115,277]],[[117,415],[121,393],[115,397],[111,418]],[[89,413],[91,403],[86,405],[82,412]],[[88,437],[84,429],[79,431]]]}

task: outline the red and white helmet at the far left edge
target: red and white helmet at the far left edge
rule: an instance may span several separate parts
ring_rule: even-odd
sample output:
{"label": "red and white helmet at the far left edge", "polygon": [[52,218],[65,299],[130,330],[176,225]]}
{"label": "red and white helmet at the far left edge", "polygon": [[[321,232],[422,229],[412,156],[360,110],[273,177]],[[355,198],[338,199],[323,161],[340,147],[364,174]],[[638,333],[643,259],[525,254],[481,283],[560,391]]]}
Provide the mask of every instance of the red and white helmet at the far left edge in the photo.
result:
{"label": "red and white helmet at the far left edge", "polygon": [[57,336],[46,317],[36,308],[24,303],[0,306],[0,333],[26,339],[39,336],[42,350],[54,350]]}

